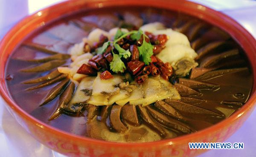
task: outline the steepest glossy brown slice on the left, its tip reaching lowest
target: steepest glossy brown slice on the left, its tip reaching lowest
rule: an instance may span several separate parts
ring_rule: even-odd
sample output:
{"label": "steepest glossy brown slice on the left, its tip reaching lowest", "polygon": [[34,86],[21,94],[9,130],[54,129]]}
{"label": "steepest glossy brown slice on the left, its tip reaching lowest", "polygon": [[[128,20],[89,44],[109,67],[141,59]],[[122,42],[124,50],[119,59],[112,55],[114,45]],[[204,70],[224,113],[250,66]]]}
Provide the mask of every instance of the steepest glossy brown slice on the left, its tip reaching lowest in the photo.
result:
{"label": "steepest glossy brown slice on the left, its tip reaching lowest", "polygon": [[58,118],[58,116],[61,115],[64,107],[67,106],[68,103],[70,102],[70,100],[74,94],[75,87],[76,87],[76,85],[73,82],[71,82],[67,86],[67,88],[64,90],[64,92],[61,94],[61,96],[59,98],[59,103],[58,103],[57,109],[53,112],[53,114],[50,116],[48,121]]}

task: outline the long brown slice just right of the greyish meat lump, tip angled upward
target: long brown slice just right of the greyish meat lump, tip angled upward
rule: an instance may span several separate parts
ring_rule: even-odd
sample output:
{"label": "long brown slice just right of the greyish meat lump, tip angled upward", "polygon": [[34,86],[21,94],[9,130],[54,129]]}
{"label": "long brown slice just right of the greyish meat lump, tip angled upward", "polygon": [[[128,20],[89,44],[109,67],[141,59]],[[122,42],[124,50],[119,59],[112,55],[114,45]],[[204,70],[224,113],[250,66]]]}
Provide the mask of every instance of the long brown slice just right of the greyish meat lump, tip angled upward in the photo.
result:
{"label": "long brown slice just right of the greyish meat lump, tip angled upward", "polygon": [[221,61],[222,59],[226,59],[228,57],[238,56],[238,55],[239,55],[238,49],[229,50],[229,51],[217,54],[217,55],[212,55],[212,56],[209,56],[209,57],[203,59],[200,63],[200,67],[211,67],[211,66],[215,65],[216,63],[218,63],[219,61]]}

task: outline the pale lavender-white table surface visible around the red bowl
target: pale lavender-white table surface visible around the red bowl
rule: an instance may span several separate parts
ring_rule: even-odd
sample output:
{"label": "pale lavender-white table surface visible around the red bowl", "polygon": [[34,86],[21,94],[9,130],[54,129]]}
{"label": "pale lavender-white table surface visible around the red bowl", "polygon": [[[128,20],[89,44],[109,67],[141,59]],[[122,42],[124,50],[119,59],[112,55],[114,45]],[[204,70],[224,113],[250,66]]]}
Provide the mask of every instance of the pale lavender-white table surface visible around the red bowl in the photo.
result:
{"label": "pale lavender-white table surface visible around the red bowl", "polygon": [[[64,0],[0,0],[0,39],[15,23],[28,14]],[[253,0],[192,0],[233,17],[256,38],[256,1]],[[225,142],[243,142],[244,149],[210,150],[200,157],[241,157],[256,154],[256,110],[241,128]],[[64,157],[30,136],[4,107],[0,98],[0,156]]]}

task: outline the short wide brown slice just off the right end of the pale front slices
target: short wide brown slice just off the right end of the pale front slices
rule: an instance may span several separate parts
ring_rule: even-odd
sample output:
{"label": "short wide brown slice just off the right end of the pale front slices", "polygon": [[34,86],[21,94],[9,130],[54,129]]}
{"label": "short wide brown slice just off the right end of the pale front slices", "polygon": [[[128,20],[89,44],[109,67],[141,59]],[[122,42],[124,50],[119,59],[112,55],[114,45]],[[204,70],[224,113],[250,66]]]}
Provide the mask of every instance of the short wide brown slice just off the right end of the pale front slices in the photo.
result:
{"label": "short wide brown slice just off the right end of the pale front slices", "polygon": [[176,88],[180,96],[201,96],[202,95],[202,93],[199,93],[196,90],[186,87],[183,84],[175,83],[174,87]]}

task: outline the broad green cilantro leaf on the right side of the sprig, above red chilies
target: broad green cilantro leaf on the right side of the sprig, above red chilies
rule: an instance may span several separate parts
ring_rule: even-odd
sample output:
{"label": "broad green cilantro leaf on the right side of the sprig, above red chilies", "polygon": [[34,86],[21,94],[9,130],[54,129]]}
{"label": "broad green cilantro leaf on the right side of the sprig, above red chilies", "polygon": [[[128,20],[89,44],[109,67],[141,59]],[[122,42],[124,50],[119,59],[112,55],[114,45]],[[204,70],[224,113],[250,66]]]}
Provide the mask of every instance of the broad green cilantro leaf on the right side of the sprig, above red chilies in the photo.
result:
{"label": "broad green cilantro leaf on the right side of the sprig, above red chilies", "polygon": [[148,65],[151,62],[151,56],[153,55],[153,48],[150,43],[145,41],[145,37],[143,40],[143,44],[138,47],[138,50],[140,52],[140,56],[142,56],[142,61]]}

